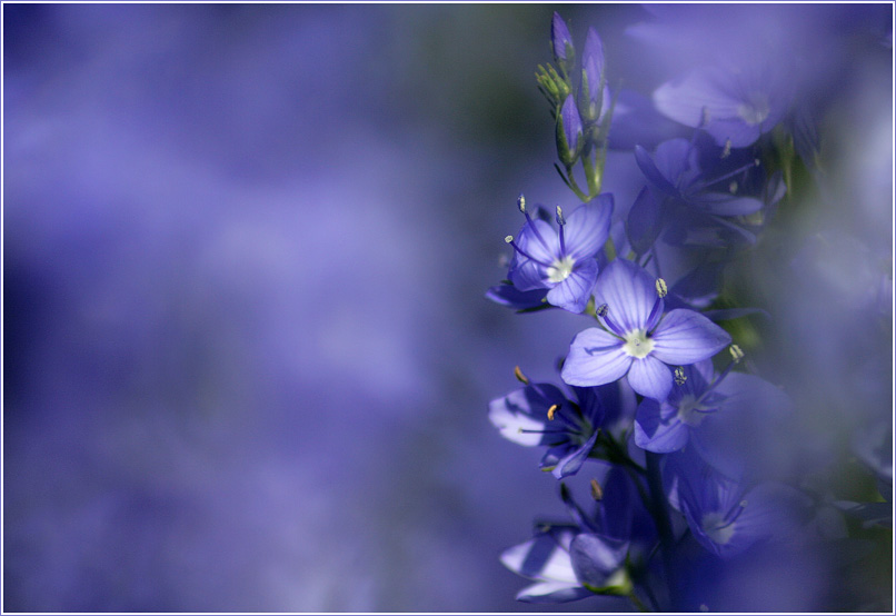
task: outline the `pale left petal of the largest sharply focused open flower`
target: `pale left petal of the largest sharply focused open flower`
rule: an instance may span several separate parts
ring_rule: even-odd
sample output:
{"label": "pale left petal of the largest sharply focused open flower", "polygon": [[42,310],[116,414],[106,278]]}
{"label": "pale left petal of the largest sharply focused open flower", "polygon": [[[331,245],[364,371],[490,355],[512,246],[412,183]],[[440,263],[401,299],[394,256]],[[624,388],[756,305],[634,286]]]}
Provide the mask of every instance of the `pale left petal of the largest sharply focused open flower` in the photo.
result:
{"label": "pale left petal of the largest sharply focused open flower", "polygon": [[560,378],[581,387],[623,378],[631,366],[631,357],[623,351],[623,340],[596,327],[580,331],[569,345]]}

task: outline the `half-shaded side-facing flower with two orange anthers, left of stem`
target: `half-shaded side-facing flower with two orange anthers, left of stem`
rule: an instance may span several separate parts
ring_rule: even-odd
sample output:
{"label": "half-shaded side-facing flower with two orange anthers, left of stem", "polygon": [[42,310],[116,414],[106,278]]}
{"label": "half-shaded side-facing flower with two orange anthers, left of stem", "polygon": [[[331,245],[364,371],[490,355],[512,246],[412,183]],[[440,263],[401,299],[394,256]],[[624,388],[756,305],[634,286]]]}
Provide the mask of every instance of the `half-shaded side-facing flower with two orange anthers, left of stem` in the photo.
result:
{"label": "half-shaded side-facing flower with two orange anthers, left of stem", "polygon": [[488,418],[501,436],[526,447],[548,447],[540,466],[558,479],[579,470],[597,443],[598,428],[624,407],[615,384],[573,391],[577,401],[554,385],[528,384],[488,405]]}

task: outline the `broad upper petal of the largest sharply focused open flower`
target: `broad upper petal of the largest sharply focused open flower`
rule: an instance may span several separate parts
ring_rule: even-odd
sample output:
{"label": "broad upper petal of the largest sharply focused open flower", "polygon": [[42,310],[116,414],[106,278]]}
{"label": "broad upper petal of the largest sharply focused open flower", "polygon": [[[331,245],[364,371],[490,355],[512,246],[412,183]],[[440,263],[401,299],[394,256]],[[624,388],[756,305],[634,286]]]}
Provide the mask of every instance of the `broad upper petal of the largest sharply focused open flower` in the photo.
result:
{"label": "broad upper petal of the largest sharply focused open flower", "polygon": [[624,331],[645,329],[656,299],[656,279],[631,261],[616,259],[597,277],[595,301]]}

